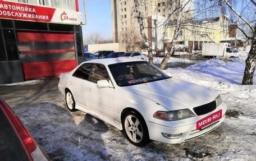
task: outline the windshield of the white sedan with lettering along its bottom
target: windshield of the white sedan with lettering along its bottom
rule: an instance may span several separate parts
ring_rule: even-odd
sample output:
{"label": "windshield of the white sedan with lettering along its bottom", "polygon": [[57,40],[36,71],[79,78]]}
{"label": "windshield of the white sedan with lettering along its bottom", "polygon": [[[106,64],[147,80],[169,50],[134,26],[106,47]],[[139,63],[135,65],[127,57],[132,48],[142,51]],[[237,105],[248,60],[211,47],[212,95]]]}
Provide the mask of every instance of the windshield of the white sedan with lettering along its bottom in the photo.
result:
{"label": "windshield of the white sedan with lettering along its bottom", "polygon": [[130,86],[169,79],[159,68],[146,61],[116,63],[109,70],[118,86]]}

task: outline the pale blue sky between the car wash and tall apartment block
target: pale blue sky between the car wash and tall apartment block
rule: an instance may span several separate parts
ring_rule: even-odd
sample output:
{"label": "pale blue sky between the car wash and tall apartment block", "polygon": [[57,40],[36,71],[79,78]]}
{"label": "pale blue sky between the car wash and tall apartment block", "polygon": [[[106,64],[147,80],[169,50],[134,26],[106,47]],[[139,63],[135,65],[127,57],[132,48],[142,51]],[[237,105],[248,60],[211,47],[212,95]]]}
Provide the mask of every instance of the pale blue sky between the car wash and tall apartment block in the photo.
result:
{"label": "pale blue sky between the car wash and tall apartment block", "polygon": [[112,39],[111,0],[79,0],[79,11],[84,20],[84,3],[86,25],[82,26],[83,38],[90,33],[100,33],[103,39]]}

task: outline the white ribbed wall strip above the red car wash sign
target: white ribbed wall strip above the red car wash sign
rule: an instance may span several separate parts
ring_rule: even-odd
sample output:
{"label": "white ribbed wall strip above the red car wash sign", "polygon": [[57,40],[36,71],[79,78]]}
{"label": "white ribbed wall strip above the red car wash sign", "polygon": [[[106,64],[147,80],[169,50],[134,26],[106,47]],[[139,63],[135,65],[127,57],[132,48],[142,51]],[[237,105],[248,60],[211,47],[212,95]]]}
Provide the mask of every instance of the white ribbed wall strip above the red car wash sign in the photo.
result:
{"label": "white ribbed wall strip above the red car wash sign", "polygon": [[75,1],[76,0],[8,0],[12,2],[28,3],[34,5],[49,6],[53,8],[63,8],[68,10],[76,10]]}

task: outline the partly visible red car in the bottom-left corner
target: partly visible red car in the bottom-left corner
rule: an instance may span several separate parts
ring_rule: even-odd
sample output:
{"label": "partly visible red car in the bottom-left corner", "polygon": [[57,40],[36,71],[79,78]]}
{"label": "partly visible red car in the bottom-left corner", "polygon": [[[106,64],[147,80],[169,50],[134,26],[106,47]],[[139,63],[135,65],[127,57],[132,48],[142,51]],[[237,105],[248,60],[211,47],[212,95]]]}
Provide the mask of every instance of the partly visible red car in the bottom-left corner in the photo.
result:
{"label": "partly visible red car in the bottom-left corner", "polygon": [[2,98],[0,98],[0,122],[0,160],[50,160]]}

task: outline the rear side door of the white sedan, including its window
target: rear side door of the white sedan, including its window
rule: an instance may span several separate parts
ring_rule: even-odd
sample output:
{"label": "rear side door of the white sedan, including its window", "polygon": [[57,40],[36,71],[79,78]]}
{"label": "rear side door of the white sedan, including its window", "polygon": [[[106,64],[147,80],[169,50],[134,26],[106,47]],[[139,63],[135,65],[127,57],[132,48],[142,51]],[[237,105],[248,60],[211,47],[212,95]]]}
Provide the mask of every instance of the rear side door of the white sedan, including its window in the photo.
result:
{"label": "rear side door of the white sedan, including its window", "polygon": [[69,89],[74,96],[75,102],[77,105],[80,105],[82,108],[88,108],[86,102],[86,89],[88,86],[88,79],[90,71],[92,70],[93,63],[85,63],[81,65],[73,73],[71,79],[69,80]]}

